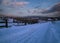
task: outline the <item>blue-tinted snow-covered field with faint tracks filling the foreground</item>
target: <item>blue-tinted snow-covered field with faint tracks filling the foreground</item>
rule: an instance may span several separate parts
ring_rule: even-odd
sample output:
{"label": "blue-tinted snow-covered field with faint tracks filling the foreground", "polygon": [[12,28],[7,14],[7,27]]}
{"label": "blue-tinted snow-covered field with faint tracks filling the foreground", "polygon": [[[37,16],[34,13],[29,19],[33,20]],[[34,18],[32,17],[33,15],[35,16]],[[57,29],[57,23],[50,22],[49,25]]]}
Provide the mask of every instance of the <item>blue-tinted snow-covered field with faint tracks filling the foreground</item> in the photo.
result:
{"label": "blue-tinted snow-covered field with faint tracks filling the foreground", "polygon": [[60,43],[60,21],[0,29],[0,43]]}

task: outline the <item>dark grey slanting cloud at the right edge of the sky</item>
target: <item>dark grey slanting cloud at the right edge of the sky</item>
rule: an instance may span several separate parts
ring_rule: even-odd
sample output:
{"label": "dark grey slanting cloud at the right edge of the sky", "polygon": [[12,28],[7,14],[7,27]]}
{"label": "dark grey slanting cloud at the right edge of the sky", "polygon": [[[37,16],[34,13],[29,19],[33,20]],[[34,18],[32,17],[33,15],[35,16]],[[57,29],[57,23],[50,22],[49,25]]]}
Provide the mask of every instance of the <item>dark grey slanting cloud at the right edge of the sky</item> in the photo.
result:
{"label": "dark grey slanting cloud at the right edge of the sky", "polygon": [[60,12],[60,3],[56,3],[50,7],[50,9],[44,10],[42,13],[52,13],[52,12]]}

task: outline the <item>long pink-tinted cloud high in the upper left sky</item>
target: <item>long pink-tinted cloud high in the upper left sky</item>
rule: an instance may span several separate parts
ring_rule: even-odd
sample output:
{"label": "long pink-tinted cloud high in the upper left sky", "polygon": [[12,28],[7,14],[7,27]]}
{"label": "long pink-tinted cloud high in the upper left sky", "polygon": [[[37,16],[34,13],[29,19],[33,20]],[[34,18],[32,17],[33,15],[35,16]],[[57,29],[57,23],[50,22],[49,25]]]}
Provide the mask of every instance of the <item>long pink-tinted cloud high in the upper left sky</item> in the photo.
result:
{"label": "long pink-tinted cloud high in the upper left sky", "polygon": [[3,0],[3,5],[6,5],[6,6],[25,6],[29,4],[29,2],[26,2],[26,1],[23,1],[23,2],[11,2],[10,0]]}

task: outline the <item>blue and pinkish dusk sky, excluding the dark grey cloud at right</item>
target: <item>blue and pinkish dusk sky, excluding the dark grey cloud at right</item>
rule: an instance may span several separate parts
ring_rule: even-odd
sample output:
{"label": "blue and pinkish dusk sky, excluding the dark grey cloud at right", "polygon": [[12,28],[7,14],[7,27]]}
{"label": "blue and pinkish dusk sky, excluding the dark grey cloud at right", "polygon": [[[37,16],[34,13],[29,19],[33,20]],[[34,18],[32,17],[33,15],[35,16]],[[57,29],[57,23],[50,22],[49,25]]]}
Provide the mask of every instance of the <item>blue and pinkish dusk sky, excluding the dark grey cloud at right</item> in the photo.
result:
{"label": "blue and pinkish dusk sky, excluding the dark grey cloud at right", "polygon": [[50,9],[60,0],[0,0],[0,13],[8,15],[37,15],[44,9]]}

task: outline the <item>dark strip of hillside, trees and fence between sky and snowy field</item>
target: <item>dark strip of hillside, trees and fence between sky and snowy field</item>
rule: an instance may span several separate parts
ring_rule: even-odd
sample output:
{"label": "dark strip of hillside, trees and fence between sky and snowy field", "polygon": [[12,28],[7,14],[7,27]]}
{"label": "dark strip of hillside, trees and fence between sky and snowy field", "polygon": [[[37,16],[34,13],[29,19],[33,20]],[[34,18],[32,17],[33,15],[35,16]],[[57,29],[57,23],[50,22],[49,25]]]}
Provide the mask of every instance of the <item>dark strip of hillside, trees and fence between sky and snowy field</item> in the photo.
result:
{"label": "dark strip of hillside, trees and fence between sky and snowy field", "polygon": [[21,25],[28,25],[28,24],[35,24],[35,23],[44,23],[48,21],[53,22],[57,20],[60,20],[60,17],[40,17],[40,16],[5,17],[5,16],[0,16],[0,27],[8,28],[10,24],[21,26]]}

